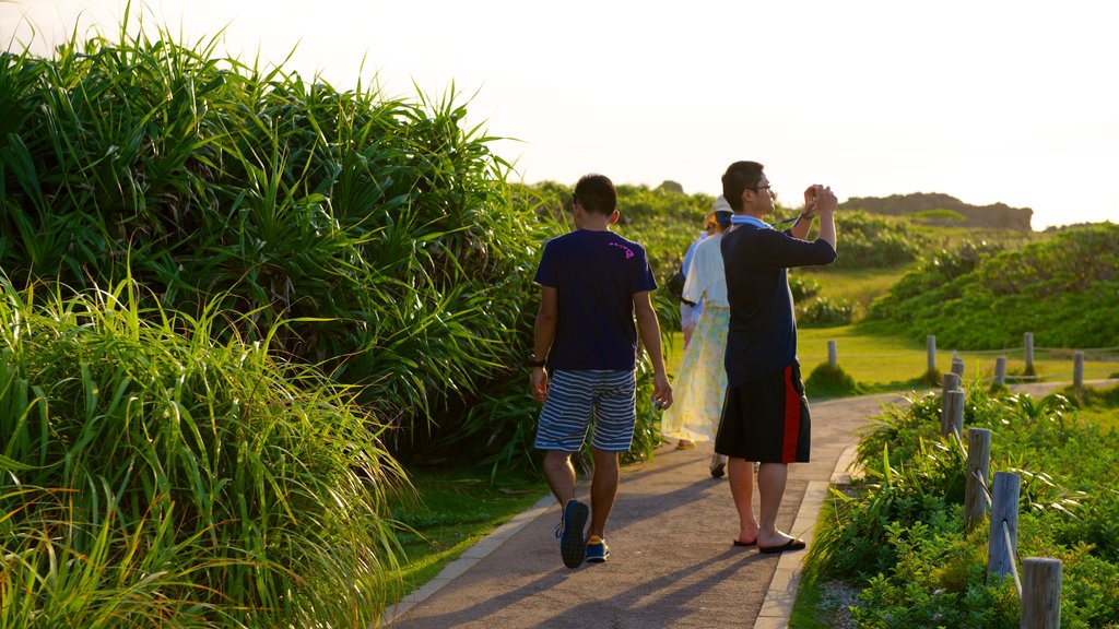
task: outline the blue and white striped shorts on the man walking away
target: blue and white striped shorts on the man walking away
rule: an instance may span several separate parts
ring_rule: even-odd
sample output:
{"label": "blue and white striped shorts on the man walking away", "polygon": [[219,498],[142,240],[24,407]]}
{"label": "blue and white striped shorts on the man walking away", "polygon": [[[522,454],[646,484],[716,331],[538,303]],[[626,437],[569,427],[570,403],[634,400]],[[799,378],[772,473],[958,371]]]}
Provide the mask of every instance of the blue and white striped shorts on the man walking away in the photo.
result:
{"label": "blue and white striped shorts on the man walking away", "polygon": [[536,426],[537,450],[579,452],[594,422],[591,445],[628,452],[637,421],[637,377],[632,370],[556,370]]}

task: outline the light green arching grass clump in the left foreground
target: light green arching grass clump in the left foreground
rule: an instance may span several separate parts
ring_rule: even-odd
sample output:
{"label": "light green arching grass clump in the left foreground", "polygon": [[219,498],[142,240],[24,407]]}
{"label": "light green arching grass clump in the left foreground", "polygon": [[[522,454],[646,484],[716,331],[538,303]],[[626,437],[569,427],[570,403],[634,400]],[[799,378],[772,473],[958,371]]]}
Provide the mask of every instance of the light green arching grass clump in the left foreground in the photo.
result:
{"label": "light green arching grass clump in the left foreground", "polygon": [[130,281],[0,284],[0,626],[376,622],[406,481],[351,391]]}

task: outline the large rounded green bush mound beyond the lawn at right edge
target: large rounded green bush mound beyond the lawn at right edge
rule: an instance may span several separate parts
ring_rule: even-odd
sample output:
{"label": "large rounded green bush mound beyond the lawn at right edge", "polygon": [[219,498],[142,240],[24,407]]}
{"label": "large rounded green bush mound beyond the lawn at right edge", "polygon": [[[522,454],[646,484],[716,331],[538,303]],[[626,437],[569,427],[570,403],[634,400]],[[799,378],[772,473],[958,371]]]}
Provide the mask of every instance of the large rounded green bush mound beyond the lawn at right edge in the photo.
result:
{"label": "large rounded green bush mound beyond the lawn at right edge", "polygon": [[1017,251],[971,244],[925,260],[876,300],[866,329],[1002,349],[1110,347],[1119,338],[1119,226],[1070,228]]}

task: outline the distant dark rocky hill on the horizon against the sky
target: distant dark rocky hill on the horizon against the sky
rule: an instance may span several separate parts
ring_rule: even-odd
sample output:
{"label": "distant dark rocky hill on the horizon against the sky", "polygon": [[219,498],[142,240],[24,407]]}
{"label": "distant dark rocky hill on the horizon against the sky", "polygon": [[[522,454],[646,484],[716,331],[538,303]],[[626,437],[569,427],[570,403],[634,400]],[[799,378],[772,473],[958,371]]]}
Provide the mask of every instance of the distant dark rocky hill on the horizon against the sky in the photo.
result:
{"label": "distant dark rocky hill on the horizon against the sky", "polygon": [[864,209],[875,214],[906,216],[933,225],[996,227],[1029,232],[1034,210],[1006,204],[977,206],[940,193],[913,193],[888,197],[852,197],[839,205],[841,210]]}

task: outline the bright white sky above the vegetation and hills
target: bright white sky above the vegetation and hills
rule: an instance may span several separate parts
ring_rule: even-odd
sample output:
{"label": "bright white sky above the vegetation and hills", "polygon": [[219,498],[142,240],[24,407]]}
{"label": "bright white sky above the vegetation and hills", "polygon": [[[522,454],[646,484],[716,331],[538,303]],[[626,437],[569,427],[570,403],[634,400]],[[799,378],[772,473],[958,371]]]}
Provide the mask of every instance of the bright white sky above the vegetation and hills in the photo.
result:
{"label": "bright white sky above the vegetation and hills", "polygon": [[[124,4],[0,0],[0,37],[40,54],[75,27],[113,40]],[[412,98],[414,82],[438,97],[453,82],[471,123],[518,140],[493,149],[527,182],[594,171],[715,195],[750,159],[789,205],[810,184],[946,193],[1031,207],[1041,229],[1119,216],[1112,6],[149,0],[144,20],[188,45],[227,27],[242,60],[294,48],[286,68],[339,90],[376,75],[388,95]]]}

